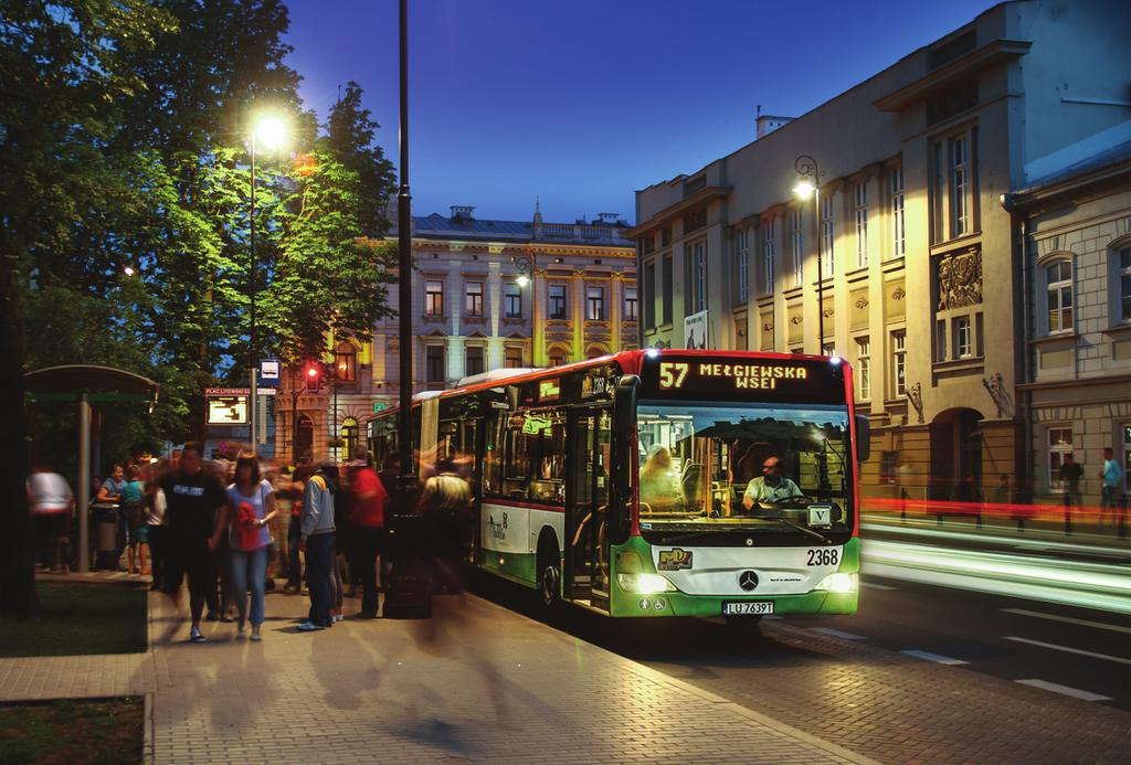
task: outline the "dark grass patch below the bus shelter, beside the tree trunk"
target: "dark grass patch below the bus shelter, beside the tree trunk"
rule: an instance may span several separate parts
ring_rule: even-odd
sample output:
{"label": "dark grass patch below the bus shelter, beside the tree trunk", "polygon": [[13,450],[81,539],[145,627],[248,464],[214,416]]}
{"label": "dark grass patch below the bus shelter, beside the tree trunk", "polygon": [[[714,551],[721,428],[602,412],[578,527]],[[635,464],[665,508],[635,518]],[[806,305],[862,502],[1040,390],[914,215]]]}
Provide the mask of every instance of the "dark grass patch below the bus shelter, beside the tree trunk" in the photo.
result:
{"label": "dark grass patch below the bus shelter, beside the tree trunk", "polygon": [[0,657],[143,653],[145,588],[40,582],[38,618],[0,618]]}

